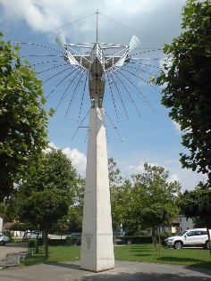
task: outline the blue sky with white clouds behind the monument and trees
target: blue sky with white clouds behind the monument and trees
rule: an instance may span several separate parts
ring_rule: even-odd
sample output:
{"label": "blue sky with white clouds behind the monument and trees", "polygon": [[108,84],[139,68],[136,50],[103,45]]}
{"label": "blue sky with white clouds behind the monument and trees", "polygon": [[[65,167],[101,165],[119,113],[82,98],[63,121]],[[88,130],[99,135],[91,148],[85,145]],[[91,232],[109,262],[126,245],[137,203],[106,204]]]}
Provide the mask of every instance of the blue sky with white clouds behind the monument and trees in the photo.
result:
{"label": "blue sky with white clouds behind the monument and trees", "polygon": [[[114,44],[129,44],[131,36],[139,37],[141,50],[161,48],[164,43],[171,43],[173,37],[181,33],[181,8],[184,0],[0,0],[0,22],[4,37],[11,41],[33,42],[49,45],[59,49],[55,44],[55,37],[63,31],[68,43],[95,42],[96,41],[96,11],[99,14],[99,41]],[[88,4],[89,3],[89,4]],[[61,28],[63,26],[63,28]],[[51,31],[51,32],[48,32]],[[45,51],[45,52],[44,52]],[[46,49],[26,47],[23,45],[22,54],[47,54]],[[33,53],[34,52],[34,53]],[[48,53],[49,54],[49,53]],[[52,54],[52,53],[51,53]],[[156,67],[161,66],[164,54],[161,52],[149,52],[145,58],[159,58],[160,61],[149,61],[147,68],[143,70],[156,74]],[[36,63],[38,58],[29,57],[30,62]],[[139,74],[139,73],[138,73]],[[46,77],[43,76],[43,79]],[[145,76],[144,79],[147,79]],[[59,80],[59,78],[57,79]],[[52,85],[56,85],[56,79],[51,79]],[[178,179],[182,189],[192,189],[198,180],[204,177],[187,169],[181,169],[179,153],[184,152],[181,146],[181,132],[173,120],[168,117],[168,111],[160,104],[160,91],[149,87],[136,79],[151,110],[145,100],[137,100],[137,106],[141,118],[134,106],[125,104],[130,119],[127,120],[122,107],[117,104],[119,122],[116,120],[114,103],[109,90],[105,91],[105,112],[118,128],[122,140],[119,138],[113,124],[107,119],[108,157],[114,157],[117,166],[122,170],[122,175],[129,178],[133,173],[143,170],[145,162],[163,166],[169,170],[170,179]],[[130,82],[125,81],[129,86]],[[107,87],[108,88],[108,87]],[[59,89],[59,87],[58,87]],[[50,86],[44,86],[45,95],[49,94]],[[61,89],[62,90],[62,89]],[[132,91],[132,89],[131,89]],[[82,92],[82,87],[80,91]],[[85,175],[87,153],[87,128],[80,128],[72,140],[72,136],[79,126],[78,116],[80,112],[81,93],[77,93],[78,100],[72,103],[72,108],[67,111],[68,96],[55,112],[55,116],[49,120],[49,141],[56,147],[63,149],[70,157],[75,168],[82,176]],[[56,107],[61,93],[47,100],[46,108]],[[84,97],[84,103],[80,119],[89,112],[89,93]],[[86,118],[81,124],[89,125]]]}

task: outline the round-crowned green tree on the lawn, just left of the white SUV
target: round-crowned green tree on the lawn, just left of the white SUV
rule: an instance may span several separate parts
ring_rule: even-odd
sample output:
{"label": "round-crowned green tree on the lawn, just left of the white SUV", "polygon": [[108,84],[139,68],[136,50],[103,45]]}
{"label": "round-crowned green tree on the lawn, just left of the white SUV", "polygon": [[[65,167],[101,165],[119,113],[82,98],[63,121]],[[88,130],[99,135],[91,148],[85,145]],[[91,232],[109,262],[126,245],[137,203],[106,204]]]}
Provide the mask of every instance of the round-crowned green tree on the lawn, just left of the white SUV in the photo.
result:
{"label": "round-crowned green tree on the lawn, just left of the white SUV", "polygon": [[[168,182],[169,172],[163,167],[144,165],[142,174],[133,175],[131,189],[131,214],[142,228],[152,228],[153,234],[162,225],[170,225],[178,214],[177,196],[181,185]],[[137,220],[138,219],[138,220]]]}

